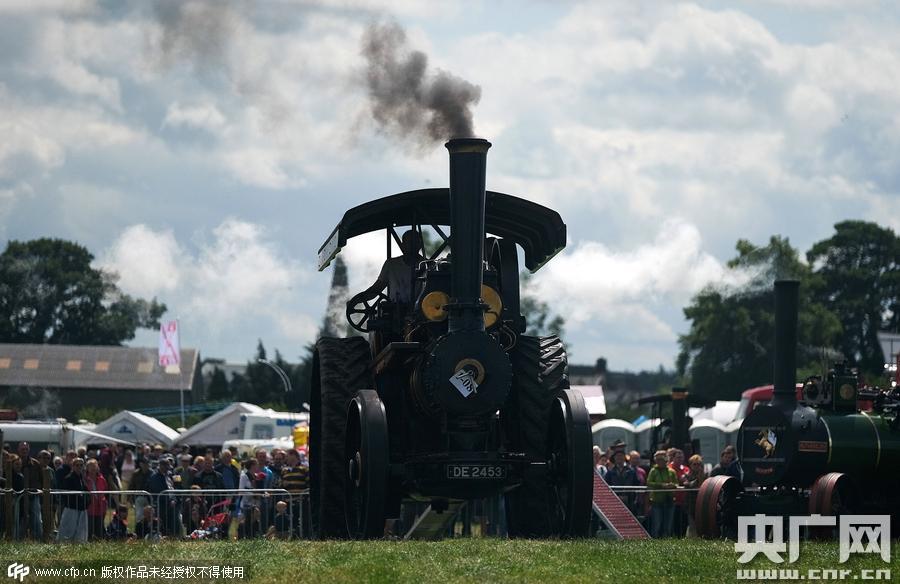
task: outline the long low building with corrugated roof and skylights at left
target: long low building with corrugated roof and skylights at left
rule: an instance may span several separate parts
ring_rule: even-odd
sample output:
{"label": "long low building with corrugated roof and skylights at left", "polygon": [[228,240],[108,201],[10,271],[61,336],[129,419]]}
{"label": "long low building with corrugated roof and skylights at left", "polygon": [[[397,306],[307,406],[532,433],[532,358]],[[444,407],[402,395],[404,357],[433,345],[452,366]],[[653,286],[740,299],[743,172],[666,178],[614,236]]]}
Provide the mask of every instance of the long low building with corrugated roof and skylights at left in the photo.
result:
{"label": "long low building with corrugated roof and skylights at left", "polygon": [[177,406],[181,392],[185,405],[203,400],[197,349],[181,349],[181,366],[163,368],[155,347],[0,343],[0,401],[28,416]]}

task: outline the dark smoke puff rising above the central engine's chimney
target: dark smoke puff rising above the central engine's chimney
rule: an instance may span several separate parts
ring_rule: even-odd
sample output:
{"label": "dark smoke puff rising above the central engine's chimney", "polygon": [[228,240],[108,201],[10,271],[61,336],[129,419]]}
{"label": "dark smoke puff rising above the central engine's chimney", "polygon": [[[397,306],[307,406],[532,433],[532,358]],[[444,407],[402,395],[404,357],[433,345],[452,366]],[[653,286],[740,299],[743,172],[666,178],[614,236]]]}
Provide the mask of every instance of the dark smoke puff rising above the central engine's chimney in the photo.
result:
{"label": "dark smoke puff rising above the central engine's chimney", "polygon": [[428,56],[407,47],[400,25],[370,25],[362,54],[372,117],[382,130],[421,146],[474,134],[470,108],[481,88],[445,71],[430,73]]}

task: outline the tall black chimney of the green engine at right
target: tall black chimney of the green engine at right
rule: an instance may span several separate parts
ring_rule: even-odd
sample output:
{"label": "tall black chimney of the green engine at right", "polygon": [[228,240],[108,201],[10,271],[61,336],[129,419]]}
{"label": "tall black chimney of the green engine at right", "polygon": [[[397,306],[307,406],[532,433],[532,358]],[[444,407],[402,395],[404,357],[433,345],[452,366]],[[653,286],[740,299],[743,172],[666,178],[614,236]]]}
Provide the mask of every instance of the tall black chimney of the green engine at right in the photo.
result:
{"label": "tall black chimney of the green engine at right", "polygon": [[792,410],[797,405],[797,316],[800,282],[775,282],[775,389],[772,405]]}

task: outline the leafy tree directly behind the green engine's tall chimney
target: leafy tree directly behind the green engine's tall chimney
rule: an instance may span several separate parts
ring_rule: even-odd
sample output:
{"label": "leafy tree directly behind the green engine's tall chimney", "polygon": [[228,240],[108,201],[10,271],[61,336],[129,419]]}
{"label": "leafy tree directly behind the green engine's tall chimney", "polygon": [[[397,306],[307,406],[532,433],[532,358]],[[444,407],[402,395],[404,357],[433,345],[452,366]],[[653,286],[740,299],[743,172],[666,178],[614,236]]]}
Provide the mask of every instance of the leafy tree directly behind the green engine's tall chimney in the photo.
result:
{"label": "leafy tree directly behind the green engine's tall chimney", "polygon": [[708,286],[684,309],[690,331],[679,338],[677,369],[693,391],[736,399],[741,391],[771,383],[776,279],[800,280],[798,365],[802,373],[820,369],[823,349],[840,333],[837,317],[814,300],[821,287],[786,238],[772,237],[765,247],[741,240],[728,263],[745,284],[732,290]]}

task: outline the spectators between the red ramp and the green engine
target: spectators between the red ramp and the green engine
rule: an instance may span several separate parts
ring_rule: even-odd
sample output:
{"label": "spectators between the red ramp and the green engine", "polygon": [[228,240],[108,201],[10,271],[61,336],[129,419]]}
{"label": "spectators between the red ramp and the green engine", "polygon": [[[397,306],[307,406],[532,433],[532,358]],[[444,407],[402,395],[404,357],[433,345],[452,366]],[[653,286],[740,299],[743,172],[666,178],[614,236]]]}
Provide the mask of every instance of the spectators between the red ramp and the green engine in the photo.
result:
{"label": "spectators between the red ramp and the green engine", "polygon": [[[654,538],[696,535],[694,506],[703,481],[719,474],[740,478],[734,446],[725,447],[709,475],[699,454],[685,464],[684,452],[669,448],[656,451],[653,460],[644,461],[636,450],[626,452],[621,441],[607,450],[594,446],[594,467]],[[615,489],[640,486],[647,490]],[[598,522],[595,527],[599,527]]]}

